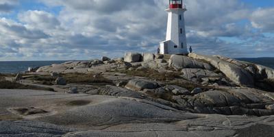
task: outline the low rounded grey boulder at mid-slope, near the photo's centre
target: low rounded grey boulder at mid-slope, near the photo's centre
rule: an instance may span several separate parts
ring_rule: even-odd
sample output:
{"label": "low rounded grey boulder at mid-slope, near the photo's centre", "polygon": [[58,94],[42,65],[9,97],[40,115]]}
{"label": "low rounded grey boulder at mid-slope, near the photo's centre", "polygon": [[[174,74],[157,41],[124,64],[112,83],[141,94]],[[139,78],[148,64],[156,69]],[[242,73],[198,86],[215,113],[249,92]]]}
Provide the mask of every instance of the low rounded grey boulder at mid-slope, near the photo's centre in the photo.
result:
{"label": "low rounded grey boulder at mid-slope, near the photo's centre", "polygon": [[134,90],[143,90],[143,89],[155,89],[158,88],[159,85],[156,82],[152,82],[147,79],[132,79],[126,85],[127,88]]}

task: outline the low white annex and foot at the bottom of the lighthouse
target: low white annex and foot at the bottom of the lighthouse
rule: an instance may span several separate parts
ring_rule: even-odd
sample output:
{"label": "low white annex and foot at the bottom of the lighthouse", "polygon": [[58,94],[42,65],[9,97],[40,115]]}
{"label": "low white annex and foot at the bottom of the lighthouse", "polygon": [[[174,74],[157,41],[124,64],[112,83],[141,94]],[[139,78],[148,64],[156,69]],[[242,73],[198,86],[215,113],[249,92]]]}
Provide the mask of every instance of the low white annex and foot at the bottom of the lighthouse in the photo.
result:
{"label": "low white annex and foot at the bottom of the lighthouse", "polygon": [[175,45],[171,40],[160,42],[160,54],[179,54],[186,55],[188,51],[182,46]]}

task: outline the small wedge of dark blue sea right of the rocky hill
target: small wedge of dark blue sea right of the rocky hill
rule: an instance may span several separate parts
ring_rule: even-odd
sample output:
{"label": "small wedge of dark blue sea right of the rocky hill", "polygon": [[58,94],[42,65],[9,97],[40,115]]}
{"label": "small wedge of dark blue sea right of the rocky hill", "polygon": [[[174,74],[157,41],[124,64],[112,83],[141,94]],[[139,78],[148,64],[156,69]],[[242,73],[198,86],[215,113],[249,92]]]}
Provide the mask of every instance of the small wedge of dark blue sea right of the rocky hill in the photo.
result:
{"label": "small wedge of dark blue sea right of the rocky hill", "polygon": [[274,58],[238,58],[237,60],[261,64],[263,66],[269,66],[270,68],[274,69]]}

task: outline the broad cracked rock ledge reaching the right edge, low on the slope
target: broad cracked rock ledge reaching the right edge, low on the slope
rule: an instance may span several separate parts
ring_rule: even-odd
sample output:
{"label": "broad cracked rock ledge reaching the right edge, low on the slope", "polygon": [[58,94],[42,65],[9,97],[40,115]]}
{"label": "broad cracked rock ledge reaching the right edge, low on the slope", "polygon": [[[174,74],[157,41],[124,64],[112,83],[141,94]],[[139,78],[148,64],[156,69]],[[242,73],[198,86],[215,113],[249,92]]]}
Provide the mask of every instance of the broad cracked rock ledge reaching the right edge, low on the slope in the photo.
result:
{"label": "broad cracked rock ledge reaching the right edge, low on the slope", "polygon": [[[194,92],[193,92],[194,93]],[[197,113],[267,116],[274,113],[273,94],[252,88],[195,92],[192,97],[173,97],[180,107]]]}

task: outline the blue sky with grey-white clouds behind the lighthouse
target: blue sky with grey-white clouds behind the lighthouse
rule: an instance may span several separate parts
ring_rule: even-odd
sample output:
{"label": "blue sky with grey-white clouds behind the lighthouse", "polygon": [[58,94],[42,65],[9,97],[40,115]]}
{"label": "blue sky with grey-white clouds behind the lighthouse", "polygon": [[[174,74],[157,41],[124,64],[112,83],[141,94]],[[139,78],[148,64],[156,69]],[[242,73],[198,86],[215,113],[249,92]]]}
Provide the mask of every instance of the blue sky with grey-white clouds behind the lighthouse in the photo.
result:
{"label": "blue sky with grey-white clouds behind the lighthouse", "polygon": [[[0,61],[155,52],[168,0],[0,0]],[[195,53],[274,57],[273,0],[184,0]]]}

